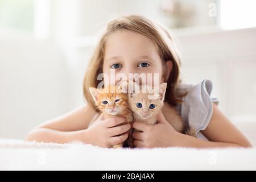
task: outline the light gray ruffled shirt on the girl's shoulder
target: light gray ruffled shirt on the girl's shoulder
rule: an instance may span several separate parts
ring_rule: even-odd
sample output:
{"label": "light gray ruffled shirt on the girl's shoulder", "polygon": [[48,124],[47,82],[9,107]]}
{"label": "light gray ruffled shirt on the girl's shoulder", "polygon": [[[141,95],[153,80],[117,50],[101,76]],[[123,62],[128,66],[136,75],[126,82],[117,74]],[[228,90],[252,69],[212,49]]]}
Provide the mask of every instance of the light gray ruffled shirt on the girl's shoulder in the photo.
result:
{"label": "light gray ruffled shirt on the girl's shoulder", "polygon": [[187,92],[183,97],[183,103],[176,106],[184,122],[196,130],[196,137],[207,140],[200,132],[209,125],[213,113],[213,102],[218,105],[217,97],[211,95],[212,81],[203,80],[199,84],[181,83],[178,87],[179,92]]}

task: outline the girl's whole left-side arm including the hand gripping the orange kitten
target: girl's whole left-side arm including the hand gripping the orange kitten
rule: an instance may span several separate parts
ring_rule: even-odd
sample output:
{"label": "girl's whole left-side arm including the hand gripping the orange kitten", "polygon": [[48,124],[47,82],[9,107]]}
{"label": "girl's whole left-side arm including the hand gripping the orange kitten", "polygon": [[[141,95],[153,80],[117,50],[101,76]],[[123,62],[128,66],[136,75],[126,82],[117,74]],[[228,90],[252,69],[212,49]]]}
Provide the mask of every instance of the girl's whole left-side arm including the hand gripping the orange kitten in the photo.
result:
{"label": "girl's whole left-side arm including the hand gripping the orange kitten", "polygon": [[104,119],[104,114],[101,114],[88,128],[95,114],[89,106],[81,106],[71,113],[36,127],[28,134],[27,140],[46,143],[80,141],[94,146],[113,147],[128,138],[131,125],[121,125],[125,122],[123,117]]}

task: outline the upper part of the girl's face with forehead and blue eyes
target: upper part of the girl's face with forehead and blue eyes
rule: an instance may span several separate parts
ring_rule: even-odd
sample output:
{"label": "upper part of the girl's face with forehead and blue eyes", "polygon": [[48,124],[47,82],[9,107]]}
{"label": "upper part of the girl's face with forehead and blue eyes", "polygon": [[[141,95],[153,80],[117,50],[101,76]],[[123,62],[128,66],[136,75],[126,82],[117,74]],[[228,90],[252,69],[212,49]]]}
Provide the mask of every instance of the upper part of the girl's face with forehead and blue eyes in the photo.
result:
{"label": "upper part of the girl's face with forehead and blue eyes", "polygon": [[[170,75],[172,62],[167,61],[167,74]],[[154,84],[154,73],[159,74],[159,84],[164,81],[163,63],[156,50],[155,44],[142,34],[133,31],[116,31],[109,35],[105,44],[105,55],[103,73],[110,78],[110,71],[123,73],[129,78],[129,73],[152,73]],[[115,80],[117,83],[119,80]],[[147,84],[148,80],[146,79]]]}

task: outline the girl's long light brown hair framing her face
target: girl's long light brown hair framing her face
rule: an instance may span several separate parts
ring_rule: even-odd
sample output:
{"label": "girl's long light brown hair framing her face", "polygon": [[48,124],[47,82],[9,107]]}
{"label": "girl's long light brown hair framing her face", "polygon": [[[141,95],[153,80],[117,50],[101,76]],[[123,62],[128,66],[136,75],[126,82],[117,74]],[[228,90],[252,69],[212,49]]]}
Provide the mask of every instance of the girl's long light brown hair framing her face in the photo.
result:
{"label": "girl's long light brown hair framing her face", "polygon": [[164,74],[167,73],[166,61],[172,61],[172,71],[167,80],[167,89],[165,101],[172,106],[182,102],[181,95],[177,93],[177,85],[180,82],[180,59],[174,49],[174,42],[171,35],[159,24],[138,15],[122,16],[108,23],[105,33],[102,35],[100,42],[90,59],[88,69],[84,76],[84,97],[93,109],[97,110],[93,98],[89,92],[89,87],[97,88],[100,83],[97,80],[98,74],[102,73],[105,43],[110,34],[118,30],[127,30],[137,32],[151,39],[155,43],[159,56],[163,60]]}

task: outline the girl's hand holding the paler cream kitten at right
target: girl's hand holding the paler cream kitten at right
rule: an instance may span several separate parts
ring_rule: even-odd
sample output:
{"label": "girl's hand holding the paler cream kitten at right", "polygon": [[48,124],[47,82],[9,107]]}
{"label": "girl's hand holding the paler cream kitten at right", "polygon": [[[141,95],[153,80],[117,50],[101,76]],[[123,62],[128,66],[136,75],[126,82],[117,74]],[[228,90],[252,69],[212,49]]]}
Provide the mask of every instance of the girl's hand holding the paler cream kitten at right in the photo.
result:
{"label": "girl's hand holding the paler cream kitten at right", "polygon": [[134,145],[139,148],[171,147],[179,143],[180,133],[168,123],[162,112],[155,125],[134,122],[133,128],[139,130],[133,133]]}

